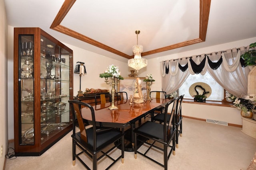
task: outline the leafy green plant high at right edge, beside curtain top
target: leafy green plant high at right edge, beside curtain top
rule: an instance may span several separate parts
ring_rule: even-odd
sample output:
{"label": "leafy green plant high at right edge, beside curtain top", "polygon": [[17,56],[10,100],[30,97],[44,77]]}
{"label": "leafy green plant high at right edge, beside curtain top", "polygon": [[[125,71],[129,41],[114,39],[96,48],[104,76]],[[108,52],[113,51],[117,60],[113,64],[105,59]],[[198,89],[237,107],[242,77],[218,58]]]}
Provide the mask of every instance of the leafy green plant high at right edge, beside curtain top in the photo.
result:
{"label": "leafy green plant high at right edge, beside curtain top", "polygon": [[[254,49],[251,49],[254,47]],[[250,49],[249,51],[245,52],[244,54],[241,55],[241,58],[244,59],[245,66],[252,66],[256,64],[256,42],[250,44]]]}

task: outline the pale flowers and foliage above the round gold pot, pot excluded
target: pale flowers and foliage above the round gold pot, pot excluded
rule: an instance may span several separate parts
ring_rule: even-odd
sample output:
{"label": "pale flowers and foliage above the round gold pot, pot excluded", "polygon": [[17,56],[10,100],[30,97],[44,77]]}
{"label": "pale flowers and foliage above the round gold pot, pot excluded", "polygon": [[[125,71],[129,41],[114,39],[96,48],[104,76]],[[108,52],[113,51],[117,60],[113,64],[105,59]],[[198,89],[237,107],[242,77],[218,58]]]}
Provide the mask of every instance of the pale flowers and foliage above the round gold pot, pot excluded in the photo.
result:
{"label": "pale flowers and foliage above the round gold pot, pot excluded", "polygon": [[243,98],[236,98],[233,103],[234,105],[232,107],[236,107],[237,109],[242,110],[244,113],[247,111],[253,111],[256,109],[256,96],[255,94],[251,94],[244,96]]}

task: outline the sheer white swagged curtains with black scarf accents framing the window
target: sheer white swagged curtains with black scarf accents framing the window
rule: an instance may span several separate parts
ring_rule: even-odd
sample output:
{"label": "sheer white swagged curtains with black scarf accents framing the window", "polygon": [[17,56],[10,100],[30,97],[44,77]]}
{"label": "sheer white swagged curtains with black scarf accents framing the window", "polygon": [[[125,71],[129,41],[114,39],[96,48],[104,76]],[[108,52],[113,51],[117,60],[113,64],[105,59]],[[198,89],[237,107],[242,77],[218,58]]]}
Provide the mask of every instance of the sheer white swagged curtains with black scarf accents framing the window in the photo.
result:
{"label": "sheer white swagged curtains with black scarf accents framing the window", "polygon": [[[222,57],[222,63],[218,68],[212,69],[208,64],[208,59],[206,58],[205,65],[203,66],[200,74],[204,75],[206,71],[208,71],[214,80],[216,80],[220,86],[228,90],[231,94],[238,97],[247,95],[248,74],[250,69],[248,66],[241,66],[240,54],[248,51],[248,49],[249,47],[240,47],[239,49],[228,49],[226,51],[213,52],[210,55],[207,55],[210,61],[214,63]],[[162,90],[167,94],[178,90],[189,74],[195,74],[189,58],[192,58],[194,63],[199,65],[206,55],[200,56],[162,61]],[[188,63],[188,69],[182,72],[178,67],[178,63],[182,66]],[[168,72],[166,72],[166,68],[169,68]]]}

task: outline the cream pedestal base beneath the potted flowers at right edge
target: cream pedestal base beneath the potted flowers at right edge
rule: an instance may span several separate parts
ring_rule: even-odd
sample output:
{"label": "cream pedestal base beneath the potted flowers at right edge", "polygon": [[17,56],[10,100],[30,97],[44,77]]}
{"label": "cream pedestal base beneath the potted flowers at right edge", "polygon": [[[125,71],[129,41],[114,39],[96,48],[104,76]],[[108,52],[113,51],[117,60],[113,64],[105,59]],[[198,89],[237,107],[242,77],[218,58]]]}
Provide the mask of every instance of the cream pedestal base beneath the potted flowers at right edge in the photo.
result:
{"label": "cream pedestal base beneath the potted flowers at right edge", "polygon": [[242,132],[256,139],[256,120],[242,117]]}

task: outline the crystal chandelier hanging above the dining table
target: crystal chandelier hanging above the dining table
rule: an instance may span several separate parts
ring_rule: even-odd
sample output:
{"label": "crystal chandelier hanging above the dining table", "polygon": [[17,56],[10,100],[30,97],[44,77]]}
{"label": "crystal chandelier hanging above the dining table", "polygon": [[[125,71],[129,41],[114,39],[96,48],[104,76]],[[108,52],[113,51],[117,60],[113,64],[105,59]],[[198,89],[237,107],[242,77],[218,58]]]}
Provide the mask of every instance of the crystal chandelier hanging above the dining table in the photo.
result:
{"label": "crystal chandelier hanging above the dining table", "polygon": [[140,30],[136,30],[135,33],[137,34],[137,45],[132,47],[132,51],[134,52],[134,59],[128,60],[128,66],[134,68],[139,72],[139,70],[145,66],[147,66],[148,62],[146,59],[141,58],[141,53],[143,51],[142,45],[138,45],[138,34]]}

